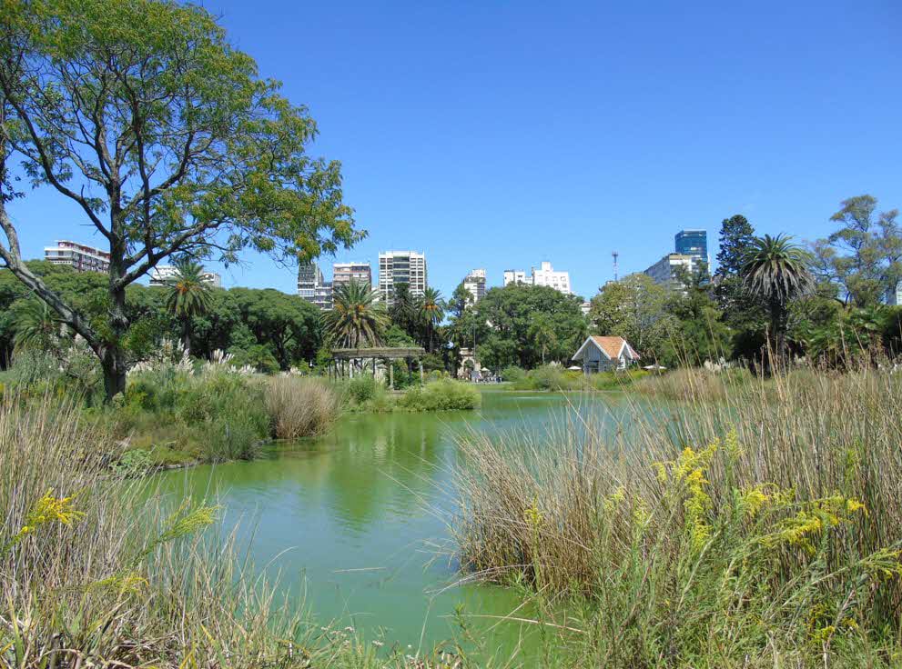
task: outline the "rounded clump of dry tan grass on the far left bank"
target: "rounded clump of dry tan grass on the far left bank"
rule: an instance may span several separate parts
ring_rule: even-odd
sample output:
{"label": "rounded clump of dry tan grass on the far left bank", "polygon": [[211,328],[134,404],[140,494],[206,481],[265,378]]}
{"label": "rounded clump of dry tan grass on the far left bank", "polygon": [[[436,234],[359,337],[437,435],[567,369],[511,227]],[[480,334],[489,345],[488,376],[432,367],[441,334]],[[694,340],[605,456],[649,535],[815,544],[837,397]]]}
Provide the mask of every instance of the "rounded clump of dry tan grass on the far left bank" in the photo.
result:
{"label": "rounded clump of dry tan grass on the far left bank", "polygon": [[321,434],[339,413],[339,397],[321,379],[276,376],[266,382],[266,407],[279,439]]}

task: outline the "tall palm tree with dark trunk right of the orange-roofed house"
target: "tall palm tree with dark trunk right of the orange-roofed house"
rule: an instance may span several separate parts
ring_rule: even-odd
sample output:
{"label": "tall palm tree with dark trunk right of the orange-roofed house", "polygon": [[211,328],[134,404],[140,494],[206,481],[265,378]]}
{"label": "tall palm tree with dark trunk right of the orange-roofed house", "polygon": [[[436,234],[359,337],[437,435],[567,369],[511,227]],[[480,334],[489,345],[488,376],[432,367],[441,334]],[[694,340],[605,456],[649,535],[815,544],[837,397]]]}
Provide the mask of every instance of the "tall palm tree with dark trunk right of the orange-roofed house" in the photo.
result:
{"label": "tall palm tree with dark trunk right of the orange-roofed house", "polygon": [[785,352],[789,303],[814,286],[808,255],[791,240],[787,235],[755,237],[743,256],[740,273],[745,290],[767,305],[770,335],[778,356]]}

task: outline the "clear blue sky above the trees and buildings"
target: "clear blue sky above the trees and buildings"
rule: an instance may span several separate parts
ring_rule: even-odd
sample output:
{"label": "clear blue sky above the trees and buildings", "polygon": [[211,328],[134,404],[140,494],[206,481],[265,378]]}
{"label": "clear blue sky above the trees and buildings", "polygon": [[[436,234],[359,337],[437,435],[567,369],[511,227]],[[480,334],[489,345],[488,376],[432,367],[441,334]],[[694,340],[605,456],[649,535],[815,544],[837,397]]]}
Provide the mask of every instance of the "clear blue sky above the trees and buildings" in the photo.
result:
{"label": "clear blue sky above the trees and buildings", "polygon": [[[205,3],[309,105],[370,237],[424,251],[445,295],[542,260],[593,295],[744,214],[825,236],[850,195],[902,207],[902,5],[886,2]],[[637,8],[642,5],[642,9]],[[46,189],[12,207],[25,255],[96,241]],[[294,290],[246,256],[225,285]],[[323,258],[330,265],[331,258]],[[327,271],[329,274],[329,271]]]}

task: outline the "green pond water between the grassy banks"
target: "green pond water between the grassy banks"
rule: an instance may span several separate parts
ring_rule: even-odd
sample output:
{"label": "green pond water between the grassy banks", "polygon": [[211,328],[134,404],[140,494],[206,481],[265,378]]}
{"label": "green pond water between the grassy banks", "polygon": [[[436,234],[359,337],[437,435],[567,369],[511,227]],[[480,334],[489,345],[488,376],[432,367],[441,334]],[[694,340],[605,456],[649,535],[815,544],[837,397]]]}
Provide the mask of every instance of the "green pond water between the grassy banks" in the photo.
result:
{"label": "green pond water between the grassy banks", "polygon": [[[237,527],[254,564],[278,573],[322,624],[428,650],[454,635],[456,608],[501,616],[521,603],[509,589],[459,583],[448,524],[461,434],[530,434],[541,443],[582,411],[623,439],[637,410],[634,398],[614,393],[489,390],[482,400],[477,412],[345,416],[329,434],[277,444],[253,462],[167,473],[164,490],[216,495],[225,529]],[[496,648],[530,634],[492,617],[472,622]]]}

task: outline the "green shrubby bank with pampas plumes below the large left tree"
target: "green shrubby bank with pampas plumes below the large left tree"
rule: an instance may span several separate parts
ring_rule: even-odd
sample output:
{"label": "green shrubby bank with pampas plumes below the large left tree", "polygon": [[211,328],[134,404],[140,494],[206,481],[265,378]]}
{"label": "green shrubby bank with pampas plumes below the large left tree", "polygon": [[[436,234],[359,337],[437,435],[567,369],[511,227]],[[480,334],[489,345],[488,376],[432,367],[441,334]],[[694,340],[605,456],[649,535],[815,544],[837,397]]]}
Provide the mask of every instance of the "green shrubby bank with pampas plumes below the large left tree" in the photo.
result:
{"label": "green shrubby bank with pampas plumes below the large left tree", "polygon": [[200,363],[173,344],[160,351],[128,374],[125,393],[110,404],[97,401],[99,378],[89,356],[80,367],[35,350],[16,355],[0,378],[0,396],[27,403],[72,398],[86,423],[123,446],[111,466],[133,475],[252,460],[264,444],[324,434],[342,414],[470,411],[481,404],[476,388],[448,378],[390,393],[367,374],[341,381],[267,375],[238,368],[225,354]]}

